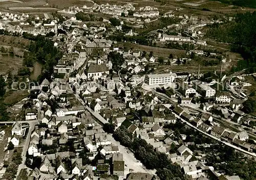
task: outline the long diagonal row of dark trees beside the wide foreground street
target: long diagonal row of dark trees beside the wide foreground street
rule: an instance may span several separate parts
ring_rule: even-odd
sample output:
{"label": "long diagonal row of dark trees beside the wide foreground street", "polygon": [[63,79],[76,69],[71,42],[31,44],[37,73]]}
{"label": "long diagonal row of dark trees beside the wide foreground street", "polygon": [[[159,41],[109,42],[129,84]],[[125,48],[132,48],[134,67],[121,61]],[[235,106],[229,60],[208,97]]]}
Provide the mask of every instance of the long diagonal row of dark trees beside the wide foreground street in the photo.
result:
{"label": "long diagonal row of dark trees beside the wide foreground street", "polygon": [[179,165],[173,164],[165,153],[155,152],[154,147],[143,139],[133,137],[133,134],[125,126],[116,129],[113,137],[126,147],[134,151],[135,158],[140,160],[147,169],[157,169],[160,179],[173,179],[180,177],[186,179]]}

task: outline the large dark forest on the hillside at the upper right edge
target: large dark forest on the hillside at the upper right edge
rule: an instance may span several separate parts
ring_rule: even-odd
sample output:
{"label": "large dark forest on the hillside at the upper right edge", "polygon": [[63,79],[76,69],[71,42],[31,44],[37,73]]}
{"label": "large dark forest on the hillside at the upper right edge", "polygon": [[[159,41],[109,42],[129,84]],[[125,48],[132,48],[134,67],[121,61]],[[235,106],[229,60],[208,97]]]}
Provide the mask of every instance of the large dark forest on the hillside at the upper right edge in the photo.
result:
{"label": "large dark forest on the hillside at the upper right edge", "polygon": [[232,43],[232,51],[240,53],[245,59],[239,62],[237,70],[241,70],[243,65],[242,68],[248,68],[247,73],[256,71],[256,11],[237,14],[235,21],[210,25],[206,36]]}

